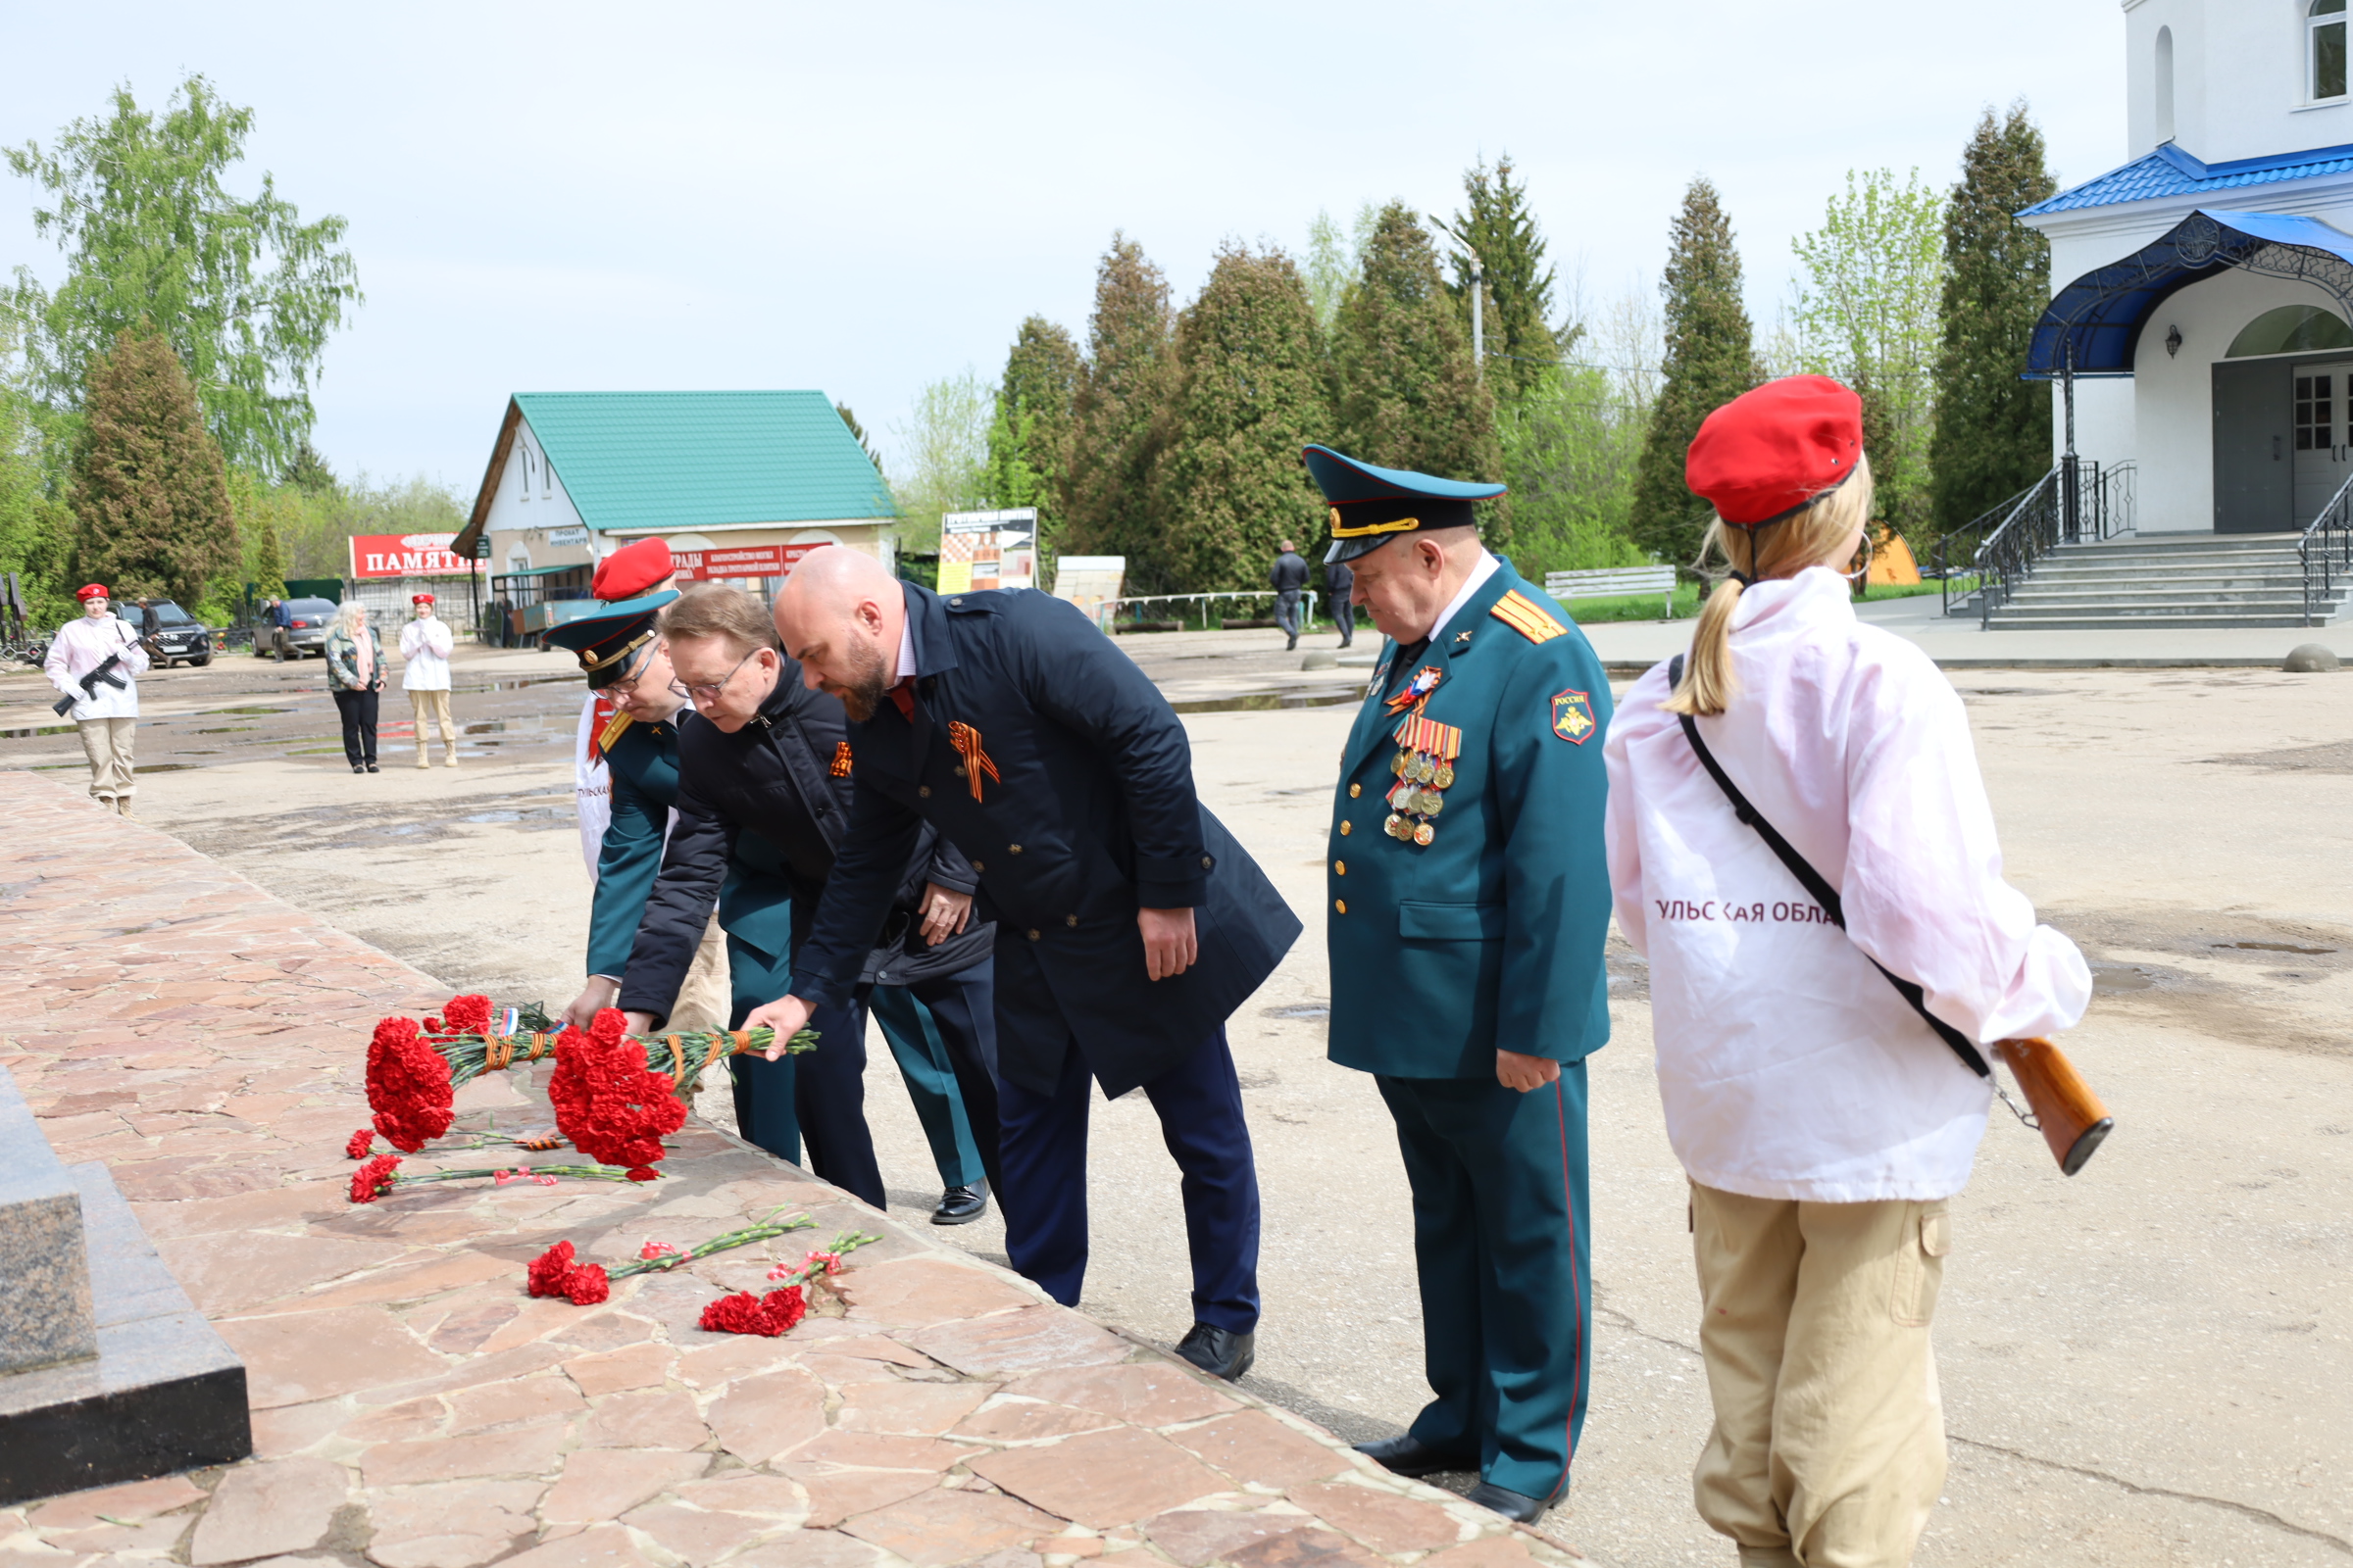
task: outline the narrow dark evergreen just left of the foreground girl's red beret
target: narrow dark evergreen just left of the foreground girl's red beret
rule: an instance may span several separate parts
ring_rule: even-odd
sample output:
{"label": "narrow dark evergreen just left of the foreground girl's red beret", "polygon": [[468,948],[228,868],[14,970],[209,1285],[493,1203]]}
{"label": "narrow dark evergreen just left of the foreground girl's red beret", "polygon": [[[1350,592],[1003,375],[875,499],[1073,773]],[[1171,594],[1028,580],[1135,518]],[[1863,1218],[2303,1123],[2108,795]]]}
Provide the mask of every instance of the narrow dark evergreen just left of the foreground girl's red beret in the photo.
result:
{"label": "narrow dark evergreen just left of the foreground girl's red beret", "polygon": [[1715,183],[1692,181],[1668,228],[1666,367],[1635,470],[1628,531],[1645,550],[1682,564],[1699,555],[1708,503],[1682,482],[1699,421],[1758,383],[1755,336],[1741,303],[1741,252]]}

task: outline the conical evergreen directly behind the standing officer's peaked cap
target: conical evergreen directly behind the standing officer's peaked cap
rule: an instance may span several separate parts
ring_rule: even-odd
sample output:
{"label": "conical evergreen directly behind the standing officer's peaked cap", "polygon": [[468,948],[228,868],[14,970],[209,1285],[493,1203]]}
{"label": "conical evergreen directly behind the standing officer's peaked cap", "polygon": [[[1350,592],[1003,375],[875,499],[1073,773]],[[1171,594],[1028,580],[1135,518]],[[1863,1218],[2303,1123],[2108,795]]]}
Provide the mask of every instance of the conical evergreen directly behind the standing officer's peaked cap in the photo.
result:
{"label": "conical evergreen directly behind the standing officer's peaked cap", "polygon": [[[1447,480],[1499,480],[1494,397],[1471,362],[1438,252],[1405,202],[1381,209],[1365,270],[1332,334],[1332,423],[1348,456]],[[1508,498],[1482,508],[1497,548],[1511,543]]]}

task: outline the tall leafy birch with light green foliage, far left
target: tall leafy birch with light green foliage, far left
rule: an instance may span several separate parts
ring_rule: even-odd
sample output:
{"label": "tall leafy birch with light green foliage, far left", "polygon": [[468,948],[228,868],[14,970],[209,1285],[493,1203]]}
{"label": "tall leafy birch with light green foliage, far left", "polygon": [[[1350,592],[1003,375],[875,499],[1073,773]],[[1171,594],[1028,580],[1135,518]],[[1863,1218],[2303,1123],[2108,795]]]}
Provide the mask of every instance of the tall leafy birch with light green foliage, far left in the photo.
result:
{"label": "tall leafy birch with light green foliage, far left", "polygon": [[75,120],[47,148],[5,148],[45,197],[33,233],[66,252],[56,292],[24,266],[7,292],[47,414],[71,425],[89,364],[151,324],[231,463],[280,473],[294,461],[327,339],[360,282],[344,219],[306,223],[268,174],[256,195],[228,188],[252,129],[254,110],[191,75],[160,115],[118,87],[106,118]]}

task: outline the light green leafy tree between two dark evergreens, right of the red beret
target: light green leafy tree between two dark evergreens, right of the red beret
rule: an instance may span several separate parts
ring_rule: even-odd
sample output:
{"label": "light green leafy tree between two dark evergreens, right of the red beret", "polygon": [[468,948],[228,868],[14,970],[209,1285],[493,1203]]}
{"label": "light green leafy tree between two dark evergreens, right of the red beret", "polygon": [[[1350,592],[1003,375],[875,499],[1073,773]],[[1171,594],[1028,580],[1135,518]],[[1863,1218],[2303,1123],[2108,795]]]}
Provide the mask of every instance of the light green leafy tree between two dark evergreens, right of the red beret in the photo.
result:
{"label": "light green leafy tree between two dark evergreens, right of the red beret", "polygon": [[1944,195],[1913,169],[1847,172],[1821,228],[1795,240],[1788,313],[1798,362],[1864,400],[1864,451],[1878,512],[1915,545],[1932,531],[1929,447],[1944,329]]}

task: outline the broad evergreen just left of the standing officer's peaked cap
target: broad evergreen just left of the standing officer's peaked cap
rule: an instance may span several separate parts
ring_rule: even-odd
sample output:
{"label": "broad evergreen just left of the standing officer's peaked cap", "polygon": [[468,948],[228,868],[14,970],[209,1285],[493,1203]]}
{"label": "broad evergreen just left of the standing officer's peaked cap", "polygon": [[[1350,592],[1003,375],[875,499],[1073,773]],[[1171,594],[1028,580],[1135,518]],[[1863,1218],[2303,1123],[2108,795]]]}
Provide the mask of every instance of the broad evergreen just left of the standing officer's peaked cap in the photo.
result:
{"label": "broad evergreen just left of the standing officer's peaked cap", "polygon": [[1278,249],[1219,252],[1176,320],[1176,376],[1153,468],[1155,552],[1169,590],[1261,588],[1275,541],[1322,531],[1299,449],[1327,437],[1315,306]]}

